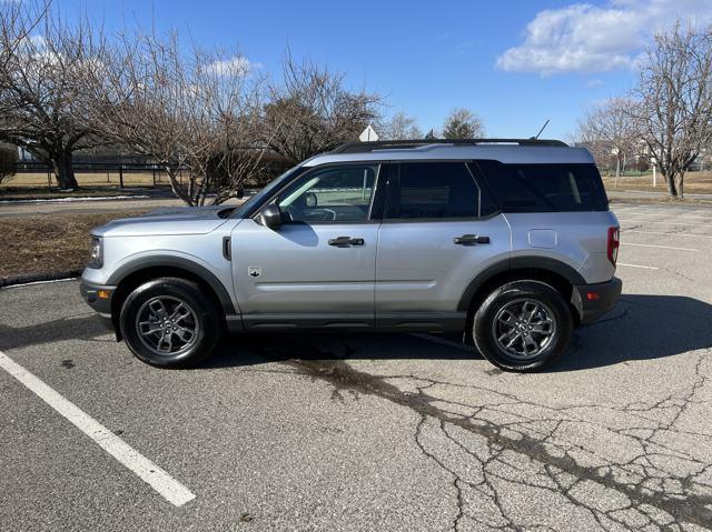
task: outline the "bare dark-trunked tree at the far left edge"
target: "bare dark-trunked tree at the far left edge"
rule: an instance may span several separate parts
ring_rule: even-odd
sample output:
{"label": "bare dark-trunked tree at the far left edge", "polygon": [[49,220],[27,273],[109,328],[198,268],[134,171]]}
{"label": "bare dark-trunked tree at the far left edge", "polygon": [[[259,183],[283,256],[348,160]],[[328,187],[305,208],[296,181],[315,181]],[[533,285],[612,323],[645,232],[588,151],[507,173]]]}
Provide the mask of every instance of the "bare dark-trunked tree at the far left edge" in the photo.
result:
{"label": "bare dark-trunked tree at the far left edge", "polygon": [[78,120],[93,68],[91,31],[50,10],[0,10],[0,140],[47,162],[61,188],[77,189],[72,154],[97,142]]}

